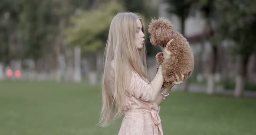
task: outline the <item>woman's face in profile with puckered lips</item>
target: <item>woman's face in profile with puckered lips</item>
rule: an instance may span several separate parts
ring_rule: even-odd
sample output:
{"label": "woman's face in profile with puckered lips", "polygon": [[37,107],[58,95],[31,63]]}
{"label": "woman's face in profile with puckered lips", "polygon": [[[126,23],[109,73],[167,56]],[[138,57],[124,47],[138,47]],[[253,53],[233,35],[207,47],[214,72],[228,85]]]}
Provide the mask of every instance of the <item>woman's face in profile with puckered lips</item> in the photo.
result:
{"label": "woman's face in profile with puckered lips", "polygon": [[138,49],[141,49],[145,44],[145,39],[144,39],[145,35],[142,32],[142,25],[141,25],[140,19],[137,19],[137,25],[138,25],[138,28],[136,28],[135,45]]}

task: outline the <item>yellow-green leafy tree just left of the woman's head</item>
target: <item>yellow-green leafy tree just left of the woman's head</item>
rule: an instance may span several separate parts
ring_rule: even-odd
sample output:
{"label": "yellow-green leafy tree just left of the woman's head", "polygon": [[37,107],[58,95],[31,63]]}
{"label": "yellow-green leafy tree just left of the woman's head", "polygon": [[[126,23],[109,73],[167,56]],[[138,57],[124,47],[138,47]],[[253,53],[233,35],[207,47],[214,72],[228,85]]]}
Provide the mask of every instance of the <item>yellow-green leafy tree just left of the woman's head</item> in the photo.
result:
{"label": "yellow-green leafy tree just left of the woman's head", "polygon": [[90,71],[96,69],[96,55],[105,47],[108,29],[114,16],[124,10],[118,3],[103,3],[97,9],[81,10],[71,18],[72,26],[66,30],[66,44],[80,46],[89,55]]}

